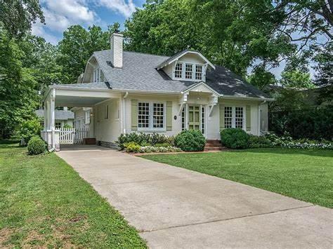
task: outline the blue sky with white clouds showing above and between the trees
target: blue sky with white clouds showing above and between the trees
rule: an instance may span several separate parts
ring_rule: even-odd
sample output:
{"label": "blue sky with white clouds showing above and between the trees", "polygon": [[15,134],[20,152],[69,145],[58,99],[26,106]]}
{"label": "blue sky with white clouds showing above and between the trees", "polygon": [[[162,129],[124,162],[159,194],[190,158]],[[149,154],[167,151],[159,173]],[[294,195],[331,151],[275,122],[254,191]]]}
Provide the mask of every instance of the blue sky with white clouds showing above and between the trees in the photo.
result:
{"label": "blue sky with white clouds showing above and between the trees", "polygon": [[[46,24],[34,23],[32,34],[42,36],[55,45],[63,38],[63,32],[70,25],[98,25],[107,29],[107,25],[119,22],[121,29],[124,29],[124,21],[131,17],[136,8],[142,8],[144,3],[145,0],[40,0]],[[280,79],[284,67],[285,63],[282,62],[270,72]],[[248,72],[251,69],[250,67]]]}

